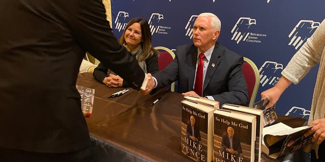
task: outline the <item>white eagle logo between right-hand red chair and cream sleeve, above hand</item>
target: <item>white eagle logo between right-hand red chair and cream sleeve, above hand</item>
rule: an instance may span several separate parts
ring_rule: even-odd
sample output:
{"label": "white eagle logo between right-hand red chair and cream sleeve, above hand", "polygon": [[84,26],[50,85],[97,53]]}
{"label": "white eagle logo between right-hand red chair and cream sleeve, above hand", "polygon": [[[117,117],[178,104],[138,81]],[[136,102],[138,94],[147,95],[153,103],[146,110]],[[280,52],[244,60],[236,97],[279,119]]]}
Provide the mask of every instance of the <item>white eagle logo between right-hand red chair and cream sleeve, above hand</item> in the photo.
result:
{"label": "white eagle logo between right-hand red chair and cream sleeve, above hand", "polygon": [[283,65],[273,61],[265,61],[259,68],[259,78],[262,87],[266,85],[275,86],[278,83]]}

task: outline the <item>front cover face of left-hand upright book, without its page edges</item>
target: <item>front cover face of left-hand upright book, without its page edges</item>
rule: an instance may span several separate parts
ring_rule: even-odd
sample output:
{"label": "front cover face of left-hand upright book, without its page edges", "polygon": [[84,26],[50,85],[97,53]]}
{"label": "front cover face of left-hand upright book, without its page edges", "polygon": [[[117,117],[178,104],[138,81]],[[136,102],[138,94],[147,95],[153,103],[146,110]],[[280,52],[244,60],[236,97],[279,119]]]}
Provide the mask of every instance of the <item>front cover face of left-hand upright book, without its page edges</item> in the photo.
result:
{"label": "front cover face of left-hand upright book, without its page edges", "polygon": [[204,127],[207,121],[196,114],[198,113],[182,113],[182,152],[194,161],[207,161],[208,130]]}

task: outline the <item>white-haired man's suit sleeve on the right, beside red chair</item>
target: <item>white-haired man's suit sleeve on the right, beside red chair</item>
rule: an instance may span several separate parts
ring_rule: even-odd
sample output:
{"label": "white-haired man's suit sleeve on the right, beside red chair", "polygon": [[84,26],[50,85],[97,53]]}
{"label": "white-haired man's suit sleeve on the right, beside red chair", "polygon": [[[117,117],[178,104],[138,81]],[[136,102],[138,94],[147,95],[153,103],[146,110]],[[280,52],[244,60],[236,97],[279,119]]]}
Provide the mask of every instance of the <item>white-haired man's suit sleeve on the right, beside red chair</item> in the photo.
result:
{"label": "white-haired man's suit sleeve on the right, beside red chair", "polygon": [[232,65],[228,76],[228,92],[218,95],[212,95],[214,100],[219,101],[220,105],[224,103],[232,103],[236,105],[248,105],[247,84],[242,72],[243,57],[240,56]]}

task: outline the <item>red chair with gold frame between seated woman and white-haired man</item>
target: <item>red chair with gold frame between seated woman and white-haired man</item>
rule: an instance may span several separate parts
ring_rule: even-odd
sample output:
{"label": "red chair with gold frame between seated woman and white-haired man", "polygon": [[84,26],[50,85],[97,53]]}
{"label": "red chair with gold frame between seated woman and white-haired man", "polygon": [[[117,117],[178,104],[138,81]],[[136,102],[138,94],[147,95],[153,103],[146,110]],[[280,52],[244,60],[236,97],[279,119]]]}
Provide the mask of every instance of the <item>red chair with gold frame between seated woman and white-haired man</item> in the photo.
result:
{"label": "red chair with gold frame between seated woman and white-haired man", "polygon": [[[158,57],[158,67],[159,70],[165,69],[167,65],[169,65],[175,58],[175,54],[173,51],[166,47],[155,47],[155,50],[159,52],[159,57]],[[171,84],[171,91],[175,92],[175,82]]]}

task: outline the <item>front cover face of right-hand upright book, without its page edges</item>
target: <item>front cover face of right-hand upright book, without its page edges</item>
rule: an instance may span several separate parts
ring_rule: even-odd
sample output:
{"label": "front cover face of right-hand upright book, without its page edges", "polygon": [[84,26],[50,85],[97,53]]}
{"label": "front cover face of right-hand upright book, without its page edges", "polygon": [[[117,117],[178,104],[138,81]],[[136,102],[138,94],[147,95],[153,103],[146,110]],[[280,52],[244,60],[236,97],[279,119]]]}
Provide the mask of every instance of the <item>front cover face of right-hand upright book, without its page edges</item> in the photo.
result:
{"label": "front cover face of right-hand upright book, without its page edges", "polygon": [[[213,161],[250,161],[250,152],[252,151],[251,126],[246,121],[227,118],[226,116],[220,117],[222,117],[223,122],[214,120]],[[237,126],[230,123],[236,123]],[[243,152],[245,152],[245,156]]]}

